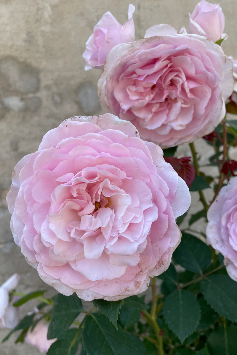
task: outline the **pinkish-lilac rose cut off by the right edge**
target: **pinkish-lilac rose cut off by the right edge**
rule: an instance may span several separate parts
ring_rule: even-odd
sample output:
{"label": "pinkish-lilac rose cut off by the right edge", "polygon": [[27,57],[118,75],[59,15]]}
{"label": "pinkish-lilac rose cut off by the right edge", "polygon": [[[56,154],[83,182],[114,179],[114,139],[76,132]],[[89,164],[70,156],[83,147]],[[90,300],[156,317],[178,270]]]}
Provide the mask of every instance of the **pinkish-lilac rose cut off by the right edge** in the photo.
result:
{"label": "pinkish-lilac rose cut off by the right edge", "polygon": [[237,281],[237,177],[222,187],[209,208],[206,237],[224,256],[229,276]]}

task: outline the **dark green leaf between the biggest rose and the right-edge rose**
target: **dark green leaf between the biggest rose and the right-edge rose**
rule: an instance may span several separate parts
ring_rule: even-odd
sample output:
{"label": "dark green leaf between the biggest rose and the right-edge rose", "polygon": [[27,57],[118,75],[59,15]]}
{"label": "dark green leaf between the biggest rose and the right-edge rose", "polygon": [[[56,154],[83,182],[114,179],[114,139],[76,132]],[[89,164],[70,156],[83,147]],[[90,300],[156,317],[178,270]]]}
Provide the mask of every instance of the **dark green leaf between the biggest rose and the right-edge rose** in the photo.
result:
{"label": "dark green leaf between the biggest rose and the right-edge rose", "polygon": [[212,254],[200,239],[182,233],[181,243],[174,251],[173,259],[185,269],[201,274],[211,264]]}

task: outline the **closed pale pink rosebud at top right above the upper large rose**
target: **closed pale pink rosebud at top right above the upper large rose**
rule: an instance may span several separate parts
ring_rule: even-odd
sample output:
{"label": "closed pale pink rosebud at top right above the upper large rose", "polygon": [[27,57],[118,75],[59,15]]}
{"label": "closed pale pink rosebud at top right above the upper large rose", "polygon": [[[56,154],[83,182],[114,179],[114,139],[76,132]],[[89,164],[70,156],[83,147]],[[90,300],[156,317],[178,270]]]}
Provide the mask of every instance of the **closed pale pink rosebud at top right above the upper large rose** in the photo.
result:
{"label": "closed pale pink rosebud at top right above the upper large rose", "polygon": [[194,7],[192,14],[189,13],[189,33],[199,34],[216,42],[226,37],[224,27],[225,16],[217,4],[202,0]]}

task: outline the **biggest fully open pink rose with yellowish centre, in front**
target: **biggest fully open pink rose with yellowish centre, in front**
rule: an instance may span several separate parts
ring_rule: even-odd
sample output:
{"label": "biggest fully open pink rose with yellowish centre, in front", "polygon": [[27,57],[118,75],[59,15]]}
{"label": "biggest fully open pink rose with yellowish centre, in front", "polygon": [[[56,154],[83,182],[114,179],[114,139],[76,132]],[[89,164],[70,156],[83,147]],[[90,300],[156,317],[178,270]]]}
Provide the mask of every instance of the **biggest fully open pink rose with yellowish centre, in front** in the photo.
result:
{"label": "biggest fully open pink rose with yellowish centre, in front", "polygon": [[162,155],[105,114],[64,121],[20,160],[7,195],[11,228],[44,282],[113,301],[168,268],[190,194]]}

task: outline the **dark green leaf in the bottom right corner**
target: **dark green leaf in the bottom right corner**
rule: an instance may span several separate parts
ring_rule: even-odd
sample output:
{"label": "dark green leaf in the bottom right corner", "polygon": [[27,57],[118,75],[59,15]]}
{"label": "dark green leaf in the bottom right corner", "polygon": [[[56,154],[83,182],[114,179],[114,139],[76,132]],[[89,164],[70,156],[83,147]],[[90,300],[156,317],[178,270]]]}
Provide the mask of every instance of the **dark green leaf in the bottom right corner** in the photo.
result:
{"label": "dark green leaf in the bottom right corner", "polygon": [[207,339],[210,355],[236,355],[237,329],[222,326],[215,329]]}

